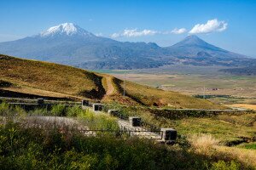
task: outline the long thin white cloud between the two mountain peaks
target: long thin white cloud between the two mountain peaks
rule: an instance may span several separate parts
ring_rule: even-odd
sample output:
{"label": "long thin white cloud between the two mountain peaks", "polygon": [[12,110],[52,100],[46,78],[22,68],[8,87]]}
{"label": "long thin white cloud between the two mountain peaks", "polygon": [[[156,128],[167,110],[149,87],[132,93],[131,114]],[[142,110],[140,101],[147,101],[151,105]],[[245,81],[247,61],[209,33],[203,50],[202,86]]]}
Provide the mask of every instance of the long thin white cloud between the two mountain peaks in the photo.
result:
{"label": "long thin white cloud between the two mountain peaks", "polygon": [[142,37],[142,36],[153,36],[157,33],[160,33],[159,31],[154,30],[143,30],[143,31],[137,31],[137,29],[125,29],[124,31],[120,33],[113,33],[111,37]]}

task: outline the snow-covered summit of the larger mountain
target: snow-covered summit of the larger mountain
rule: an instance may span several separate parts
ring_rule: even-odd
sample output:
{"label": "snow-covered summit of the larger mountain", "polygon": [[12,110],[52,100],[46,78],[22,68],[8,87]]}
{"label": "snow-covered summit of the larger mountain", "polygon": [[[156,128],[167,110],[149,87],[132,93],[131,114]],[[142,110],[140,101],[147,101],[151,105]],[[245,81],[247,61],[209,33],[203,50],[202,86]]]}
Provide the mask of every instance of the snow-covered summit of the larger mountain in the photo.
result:
{"label": "snow-covered summit of the larger mountain", "polygon": [[40,37],[53,37],[55,35],[86,35],[93,36],[92,33],[85,31],[83,28],[73,23],[63,23],[59,26],[52,26],[48,30],[42,31]]}

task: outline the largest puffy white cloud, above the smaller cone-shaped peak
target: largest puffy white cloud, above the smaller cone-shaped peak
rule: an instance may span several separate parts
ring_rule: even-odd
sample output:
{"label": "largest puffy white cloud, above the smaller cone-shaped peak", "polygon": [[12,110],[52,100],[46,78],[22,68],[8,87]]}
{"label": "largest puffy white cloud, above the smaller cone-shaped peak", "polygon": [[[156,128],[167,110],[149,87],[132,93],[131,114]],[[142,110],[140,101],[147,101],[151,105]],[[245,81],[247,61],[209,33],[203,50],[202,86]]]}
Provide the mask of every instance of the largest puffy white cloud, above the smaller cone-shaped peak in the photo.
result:
{"label": "largest puffy white cloud, above the smaller cone-shaped peak", "polygon": [[190,34],[200,34],[200,33],[211,33],[214,31],[224,31],[227,29],[228,24],[222,20],[217,19],[208,20],[206,24],[197,24],[190,31]]}

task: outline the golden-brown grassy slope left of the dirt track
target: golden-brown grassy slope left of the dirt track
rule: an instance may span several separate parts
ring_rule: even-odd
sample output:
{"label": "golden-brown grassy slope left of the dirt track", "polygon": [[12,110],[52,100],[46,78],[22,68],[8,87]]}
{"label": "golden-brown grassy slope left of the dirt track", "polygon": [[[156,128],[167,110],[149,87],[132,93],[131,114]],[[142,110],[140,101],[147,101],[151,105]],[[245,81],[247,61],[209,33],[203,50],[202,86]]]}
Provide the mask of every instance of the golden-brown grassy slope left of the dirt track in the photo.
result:
{"label": "golden-brown grassy slope left of the dirt track", "polygon": [[71,66],[4,55],[0,55],[0,77],[22,87],[77,96],[83,91],[97,90],[96,81],[101,79],[93,72]]}

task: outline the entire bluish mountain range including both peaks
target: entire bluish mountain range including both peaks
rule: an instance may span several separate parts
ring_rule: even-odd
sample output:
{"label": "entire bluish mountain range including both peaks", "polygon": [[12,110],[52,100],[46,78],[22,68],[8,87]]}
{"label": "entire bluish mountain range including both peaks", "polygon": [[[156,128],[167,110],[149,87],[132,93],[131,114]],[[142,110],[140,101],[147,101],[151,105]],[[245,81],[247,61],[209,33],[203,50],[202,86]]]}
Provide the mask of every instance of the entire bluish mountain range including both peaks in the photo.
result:
{"label": "entire bluish mountain range including both peaks", "polygon": [[154,42],[118,42],[97,37],[73,23],[50,27],[32,37],[0,42],[0,54],[90,70],[141,69],[175,64],[249,66],[256,63],[256,59],[215,47],[196,36],[162,48]]}

